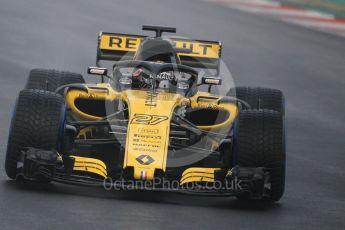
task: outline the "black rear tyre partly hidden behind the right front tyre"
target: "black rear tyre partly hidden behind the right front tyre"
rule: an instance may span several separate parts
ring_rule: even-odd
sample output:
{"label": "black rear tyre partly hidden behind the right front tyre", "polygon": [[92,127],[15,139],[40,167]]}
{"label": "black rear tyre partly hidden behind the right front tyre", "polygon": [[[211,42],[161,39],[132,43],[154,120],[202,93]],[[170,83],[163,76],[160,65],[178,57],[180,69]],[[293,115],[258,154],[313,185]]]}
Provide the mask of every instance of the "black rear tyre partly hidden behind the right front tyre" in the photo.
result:
{"label": "black rear tyre partly hidden behind the right front tyre", "polygon": [[285,100],[282,91],[262,87],[231,88],[227,96],[247,102],[251,109],[269,109],[285,114]]}

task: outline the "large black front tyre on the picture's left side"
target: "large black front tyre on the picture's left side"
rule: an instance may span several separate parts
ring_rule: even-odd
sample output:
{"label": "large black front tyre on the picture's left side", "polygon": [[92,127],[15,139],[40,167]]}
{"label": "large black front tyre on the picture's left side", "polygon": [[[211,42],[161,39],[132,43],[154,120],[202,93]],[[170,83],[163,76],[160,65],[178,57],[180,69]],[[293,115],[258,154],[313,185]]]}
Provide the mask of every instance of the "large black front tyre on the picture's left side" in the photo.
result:
{"label": "large black front tyre on the picture's left side", "polygon": [[[65,104],[61,95],[43,90],[22,90],[14,108],[7,143],[5,171],[15,179],[20,152],[25,147],[58,150],[64,131]],[[47,182],[41,178],[40,182]]]}

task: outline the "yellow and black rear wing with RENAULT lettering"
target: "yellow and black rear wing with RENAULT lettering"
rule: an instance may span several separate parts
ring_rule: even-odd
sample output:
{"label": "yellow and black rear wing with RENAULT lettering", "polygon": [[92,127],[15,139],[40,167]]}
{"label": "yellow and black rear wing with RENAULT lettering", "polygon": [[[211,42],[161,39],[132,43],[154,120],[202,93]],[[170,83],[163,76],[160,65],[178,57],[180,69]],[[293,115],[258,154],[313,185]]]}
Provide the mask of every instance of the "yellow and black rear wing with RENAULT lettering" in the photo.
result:
{"label": "yellow and black rear wing with RENAULT lettering", "polygon": [[[147,36],[101,32],[98,36],[97,65],[99,61],[133,59],[140,43]],[[222,44],[218,41],[203,41],[184,38],[169,38],[175,43],[181,63],[195,68],[219,71]],[[185,52],[189,50],[191,52]],[[180,52],[179,52],[180,51]]]}

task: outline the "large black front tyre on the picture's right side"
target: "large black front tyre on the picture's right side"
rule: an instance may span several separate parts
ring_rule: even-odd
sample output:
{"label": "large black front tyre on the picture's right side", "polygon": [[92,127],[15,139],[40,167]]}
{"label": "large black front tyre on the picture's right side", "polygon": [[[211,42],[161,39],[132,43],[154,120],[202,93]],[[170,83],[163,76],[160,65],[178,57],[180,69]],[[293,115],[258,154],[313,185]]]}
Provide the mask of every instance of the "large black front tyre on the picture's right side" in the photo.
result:
{"label": "large black front tyre on the picture's right side", "polygon": [[267,199],[278,201],[285,188],[284,117],[272,110],[243,110],[236,126],[233,163],[242,167],[267,168],[271,180]]}

